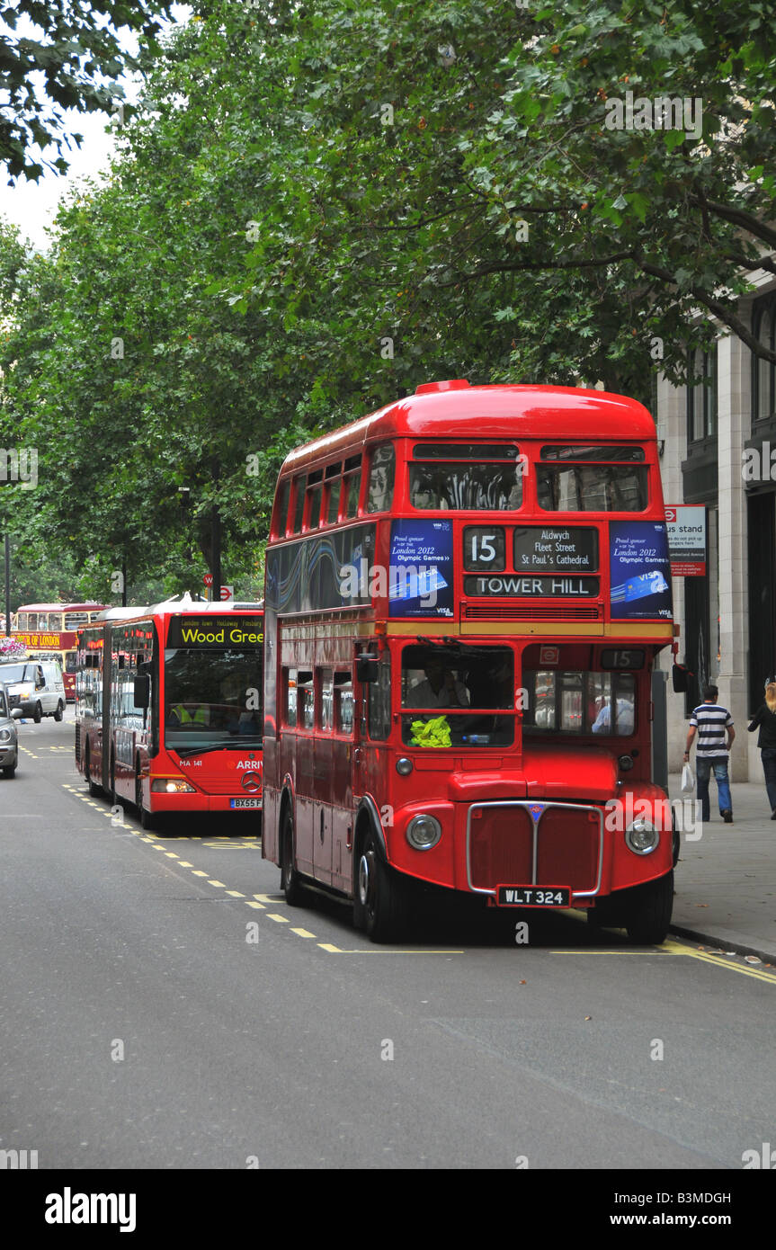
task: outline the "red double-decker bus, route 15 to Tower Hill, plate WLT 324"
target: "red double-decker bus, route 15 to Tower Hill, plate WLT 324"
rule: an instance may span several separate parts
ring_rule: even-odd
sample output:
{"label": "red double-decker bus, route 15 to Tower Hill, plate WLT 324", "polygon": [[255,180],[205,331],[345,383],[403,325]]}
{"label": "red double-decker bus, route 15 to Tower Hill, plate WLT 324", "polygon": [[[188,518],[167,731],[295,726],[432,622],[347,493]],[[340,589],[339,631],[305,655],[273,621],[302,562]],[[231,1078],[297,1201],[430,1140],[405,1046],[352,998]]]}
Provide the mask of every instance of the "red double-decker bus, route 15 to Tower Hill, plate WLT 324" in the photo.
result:
{"label": "red double-decker bus, route 15 to Tower Hill, plate WLT 324", "polygon": [[329,888],[395,940],[426,882],[665,939],[674,625],[645,408],[432,382],[297,449],[265,612],[262,854],[290,904]]}

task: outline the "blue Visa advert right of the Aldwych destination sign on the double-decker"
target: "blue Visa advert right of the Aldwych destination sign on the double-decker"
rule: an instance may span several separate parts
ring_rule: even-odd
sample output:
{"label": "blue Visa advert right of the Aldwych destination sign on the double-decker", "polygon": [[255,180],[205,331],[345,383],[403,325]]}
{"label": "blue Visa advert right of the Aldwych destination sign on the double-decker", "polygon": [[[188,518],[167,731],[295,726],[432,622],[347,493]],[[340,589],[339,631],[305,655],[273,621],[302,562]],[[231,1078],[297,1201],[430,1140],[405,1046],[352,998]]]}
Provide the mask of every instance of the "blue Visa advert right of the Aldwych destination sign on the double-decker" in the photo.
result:
{"label": "blue Visa advert right of the Aldwych destination sign on the double-decker", "polygon": [[609,528],[612,620],[671,618],[669,535],[660,521],[612,521]]}

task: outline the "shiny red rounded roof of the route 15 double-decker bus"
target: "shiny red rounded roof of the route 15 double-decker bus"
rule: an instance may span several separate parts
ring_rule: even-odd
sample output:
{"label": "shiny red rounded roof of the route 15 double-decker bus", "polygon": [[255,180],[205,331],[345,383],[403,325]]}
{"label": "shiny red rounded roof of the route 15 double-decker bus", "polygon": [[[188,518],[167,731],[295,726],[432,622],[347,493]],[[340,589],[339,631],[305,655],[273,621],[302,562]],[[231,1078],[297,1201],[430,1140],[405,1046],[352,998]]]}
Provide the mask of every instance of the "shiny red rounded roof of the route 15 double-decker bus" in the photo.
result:
{"label": "shiny red rounded roof of the route 15 double-decker bus", "polygon": [[[377,412],[340,426],[291,451],[282,472],[295,472],[329,455],[356,451],[391,438],[655,439],[652,416],[634,399],[577,386],[470,386],[425,382]],[[451,422],[455,429],[451,429]]]}

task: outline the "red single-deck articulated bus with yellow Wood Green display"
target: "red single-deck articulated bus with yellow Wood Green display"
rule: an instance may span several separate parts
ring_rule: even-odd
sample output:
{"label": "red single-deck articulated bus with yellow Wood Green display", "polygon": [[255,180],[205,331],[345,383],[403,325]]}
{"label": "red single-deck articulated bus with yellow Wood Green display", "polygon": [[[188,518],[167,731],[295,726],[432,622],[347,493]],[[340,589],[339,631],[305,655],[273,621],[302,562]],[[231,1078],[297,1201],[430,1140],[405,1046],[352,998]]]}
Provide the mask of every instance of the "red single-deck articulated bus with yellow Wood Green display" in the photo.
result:
{"label": "red single-deck articulated bus with yellow Wood Green display", "polygon": [[184,811],[261,812],[264,611],[167,600],[79,635],[75,759],[144,829]]}

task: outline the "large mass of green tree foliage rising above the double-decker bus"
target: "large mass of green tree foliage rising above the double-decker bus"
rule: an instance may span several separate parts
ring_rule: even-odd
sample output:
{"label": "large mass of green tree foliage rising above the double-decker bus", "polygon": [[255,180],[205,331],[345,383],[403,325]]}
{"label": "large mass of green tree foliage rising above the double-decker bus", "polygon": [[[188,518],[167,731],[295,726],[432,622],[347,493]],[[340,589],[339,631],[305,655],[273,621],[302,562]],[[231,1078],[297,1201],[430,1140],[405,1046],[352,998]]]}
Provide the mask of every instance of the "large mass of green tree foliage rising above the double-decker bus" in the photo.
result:
{"label": "large mass of green tree foliage rising above the double-decker bus", "polygon": [[421,381],[649,402],[719,332],[770,355],[772,34],[760,0],[202,8],[51,254],[4,244],[31,531],[180,590],[217,506],[255,594],[285,451]]}

